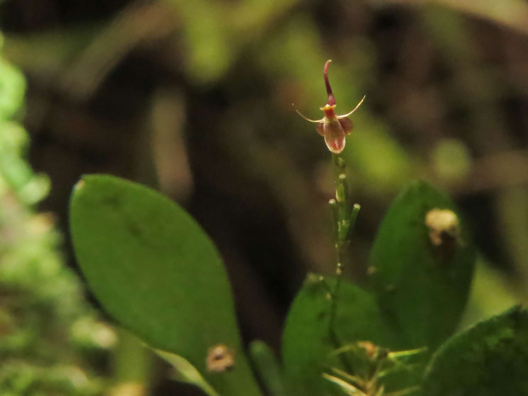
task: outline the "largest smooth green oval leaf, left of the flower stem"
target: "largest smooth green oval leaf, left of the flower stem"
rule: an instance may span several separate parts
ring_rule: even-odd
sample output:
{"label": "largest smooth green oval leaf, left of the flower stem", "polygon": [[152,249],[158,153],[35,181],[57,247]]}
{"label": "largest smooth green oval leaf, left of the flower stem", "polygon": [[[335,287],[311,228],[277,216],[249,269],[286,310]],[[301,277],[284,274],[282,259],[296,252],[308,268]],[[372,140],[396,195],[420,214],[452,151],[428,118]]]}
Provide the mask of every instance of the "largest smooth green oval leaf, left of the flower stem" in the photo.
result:
{"label": "largest smooth green oval leaf, left of the flower stem", "polygon": [[[220,256],[180,206],[118,177],[83,176],[72,193],[70,228],[90,289],[119,323],[182,356],[220,393],[259,394]],[[208,369],[217,345],[234,354],[231,370]]]}

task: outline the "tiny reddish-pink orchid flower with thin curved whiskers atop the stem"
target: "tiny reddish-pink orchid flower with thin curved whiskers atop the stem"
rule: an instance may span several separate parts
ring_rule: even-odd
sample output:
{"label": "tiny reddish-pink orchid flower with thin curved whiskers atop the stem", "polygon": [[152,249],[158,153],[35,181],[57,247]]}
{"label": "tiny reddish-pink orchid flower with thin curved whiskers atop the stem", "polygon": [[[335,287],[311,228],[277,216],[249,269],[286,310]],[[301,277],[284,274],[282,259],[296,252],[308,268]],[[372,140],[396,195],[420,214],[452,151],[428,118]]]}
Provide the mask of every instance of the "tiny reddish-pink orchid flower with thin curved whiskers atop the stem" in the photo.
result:
{"label": "tiny reddish-pink orchid flower with thin curved whiskers atop the stem", "polygon": [[302,114],[299,110],[296,110],[298,114],[303,117],[305,120],[310,122],[317,123],[317,133],[321,136],[324,136],[325,143],[328,149],[335,154],[339,154],[345,148],[345,135],[350,135],[352,132],[353,124],[352,121],[348,118],[358,107],[361,106],[365,97],[361,99],[357,106],[351,112],[338,116],[335,114],[335,97],[332,93],[332,88],[330,87],[330,82],[328,81],[328,65],[332,62],[331,59],[327,60],[325,63],[325,68],[323,71],[323,76],[325,78],[326,93],[328,93],[328,101],[324,107],[320,109],[325,112],[325,116],[320,120],[310,120]]}

